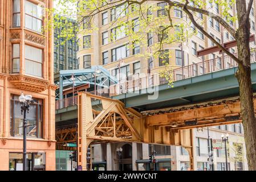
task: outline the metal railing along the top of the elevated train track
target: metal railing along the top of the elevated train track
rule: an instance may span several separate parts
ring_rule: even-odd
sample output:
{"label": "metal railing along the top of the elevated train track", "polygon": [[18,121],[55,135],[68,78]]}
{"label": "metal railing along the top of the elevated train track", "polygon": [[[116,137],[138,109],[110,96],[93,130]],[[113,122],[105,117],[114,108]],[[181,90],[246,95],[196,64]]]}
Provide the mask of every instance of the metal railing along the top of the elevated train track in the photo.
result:
{"label": "metal railing along the top of the elevated train track", "polygon": [[[237,53],[234,54],[237,56]],[[256,62],[256,49],[251,49],[251,63]],[[197,64],[187,65],[182,68],[173,69],[173,81],[184,80],[186,78],[192,78],[195,76],[206,75],[208,73],[213,73],[221,71],[224,69],[237,67],[238,64],[231,59],[230,56],[217,57],[215,59],[210,59],[202,61]],[[170,72],[171,74],[171,72]],[[129,76],[125,81],[120,81],[119,84],[111,85],[109,88],[103,88],[90,92],[91,94],[96,94],[97,96],[111,97],[117,96],[123,93],[131,93],[137,90],[151,88],[153,86],[159,86],[167,84],[168,80],[161,77],[159,73],[152,76],[139,77],[138,75]],[[63,107],[71,106],[77,104],[77,97],[70,97],[64,100],[56,101],[56,109],[61,109]]]}

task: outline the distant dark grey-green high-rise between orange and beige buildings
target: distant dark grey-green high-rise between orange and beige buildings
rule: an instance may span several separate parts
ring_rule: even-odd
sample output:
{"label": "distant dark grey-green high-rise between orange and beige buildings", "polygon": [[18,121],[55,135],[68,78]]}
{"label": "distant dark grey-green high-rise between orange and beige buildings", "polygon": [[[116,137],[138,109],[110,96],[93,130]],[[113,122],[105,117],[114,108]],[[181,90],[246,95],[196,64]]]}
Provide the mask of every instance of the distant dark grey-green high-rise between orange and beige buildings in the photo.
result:
{"label": "distant dark grey-green high-rise between orange and beige buildings", "polygon": [[[66,26],[72,23],[75,26],[75,20],[61,19],[59,16],[55,21],[67,21]],[[63,23],[65,24],[65,23]],[[60,32],[64,27],[54,28],[54,73],[67,69],[78,69],[78,61],[76,59],[76,52],[78,47],[76,45],[76,32],[74,31],[74,38],[65,41],[66,38],[60,36]]]}

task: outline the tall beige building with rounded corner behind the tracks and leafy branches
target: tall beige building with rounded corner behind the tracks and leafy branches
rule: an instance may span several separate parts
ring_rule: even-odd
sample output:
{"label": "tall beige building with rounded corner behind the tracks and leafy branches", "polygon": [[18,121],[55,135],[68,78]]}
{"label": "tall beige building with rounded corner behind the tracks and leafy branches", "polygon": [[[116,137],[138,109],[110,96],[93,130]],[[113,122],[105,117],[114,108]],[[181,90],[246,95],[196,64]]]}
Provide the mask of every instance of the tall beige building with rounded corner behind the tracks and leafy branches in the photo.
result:
{"label": "tall beige building with rounded corner behind the tracks and leafy branches", "polygon": [[[215,14],[221,14],[221,7],[217,3],[210,3],[208,0],[206,1],[207,6],[205,9],[212,11]],[[155,12],[151,12],[153,16],[160,16],[166,14],[165,6],[167,3],[165,2],[148,2],[154,5],[159,6],[159,10]],[[164,67],[162,64],[162,58],[153,57],[149,59],[145,59],[145,57],[136,56],[138,53],[149,52],[152,48],[153,44],[159,42],[157,35],[148,35],[148,45],[136,45],[135,47],[127,47],[127,44],[131,44],[131,40],[129,40],[129,36],[125,35],[125,32],[119,32],[117,35],[115,31],[115,27],[113,26],[113,21],[116,17],[119,17],[124,5],[118,6],[115,9],[108,9],[103,11],[101,14],[97,14],[94,17],[94,26],[98,29],[91,32],[91,34],[86,34],[83,31],[83,28],[90,28],[90,24],[85,23],[80,27],[80,31],[78,32],[78,60],[80,60],[79,69],[90,67],[91,65],[104,65],[107,68],[112,76],[116,76],[119,72],[119,64],[121,60],[121,69],[120,72],[124,75],[121,80],[125,78],[125,76],[134,75],[136,73],[158,73]],[[255,9],[256,3],[253,3],[253,8],[251,9],[250,14],[250,22],[251,22],[251,34],[255,34]],[[235,16],[235,5],[230,5],[230,17]],[[121,16],[125,16],[128,11],[132,11],[132,7],[129,7],[126,12],[124,12]],[[181,9],[175,8],[170,10],[170,16],[173,20],[173,23],[188,23],[188,16],[181,11]],[[218,23],[216,20],[209,16],[204,16],[200,13],[197,14],[196,21],[202,26],[205,27],[205,30],[213,36],[214,39],[219,43],[226,43],[231,40],[234,40],[233,36],[229,34]],[[125,17],[124,20],[127,20]],[[135,26],[140,26],[139,19],[136,17],[133,19],[133,23]],[[230,25],[234,28],[237,27],[237,22],[230,22]],[[194,26],[192,25],[194,29]],[[136,29],[136,28],[133,28]],[[120,28],[122,30],[122,28]],[[172,30],[173,31],[173,30]],[[173,32],[170,32],[173,34]],[[111,37],[114,35],[115,39],[113,40]],[[169,65],[172,65],[173,68],[179,68],[182,66],[198,63],[204,60],[215,59],[217,57],[222,56],[219,52],[211,53],[210,55],[206,55],[203,57],[197,57],[196,53],[200,49],[209,48],[214,46],[214,43],[205,37],[200,31],[197,32],[196,35],[193,35],[184,43],[172,43],[172,44],[164,44],[164,50],[169,53],[169,57],[165,59]],[[251,42],[251,47],[255,47],[255,41]],[[181,49],[183,53],[181,53]],[[236,48],[230,48],[231,52],[236,52]],[[183,55],[183,56],[182,56]],[[214,65],[210,65],[212,67],[223,67],[228,65],[222,65],[221,60],[217,60]],[[230,63],[225,63],[230,64]],[[194,67],[193,72],[201,73],[207,68],[197,68]],[[177,77],[182,75],[176,75]]]}

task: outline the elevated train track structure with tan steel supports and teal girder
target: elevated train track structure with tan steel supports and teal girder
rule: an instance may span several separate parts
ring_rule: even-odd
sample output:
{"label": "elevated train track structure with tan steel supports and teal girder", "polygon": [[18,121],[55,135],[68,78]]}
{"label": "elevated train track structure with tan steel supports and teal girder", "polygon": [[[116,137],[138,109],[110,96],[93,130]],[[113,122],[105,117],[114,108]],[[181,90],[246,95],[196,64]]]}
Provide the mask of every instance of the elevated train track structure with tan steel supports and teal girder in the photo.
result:
{"label": "elevated train track structure with tan steel supports and teal girder", "polygon": [[[254,92],[255,56],[253,49]],[[189,152],[193,170],[192,129],[242,121],[236,71],[234,61],[224,56],[174,70],[173,88],[155,75],[120,82],[97,90],[96,94],[79,92],[78,96],[67,98],[75,100],[70,104],[60,104],[67,99],[56,101],[57,143],[78,142],[78,165],[83,170],[88,169],[87,148],[94,142],[183,146]],[[177,77],[180,72],[185,74]],[[156,99],[151,99],[154,95]],[[256,110],[256,98],[254,107]]]}

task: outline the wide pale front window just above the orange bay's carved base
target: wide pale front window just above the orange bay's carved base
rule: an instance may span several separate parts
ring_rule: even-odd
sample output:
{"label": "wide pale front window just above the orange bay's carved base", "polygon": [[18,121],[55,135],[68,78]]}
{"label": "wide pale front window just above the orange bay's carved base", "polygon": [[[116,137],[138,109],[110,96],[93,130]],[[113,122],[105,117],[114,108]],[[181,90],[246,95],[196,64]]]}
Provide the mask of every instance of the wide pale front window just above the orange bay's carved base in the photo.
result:
{"label": "wide pale front window just above the orange bay's carved base", "polygon": [[25,73],[42,77],[43,51],[25,45]]}

